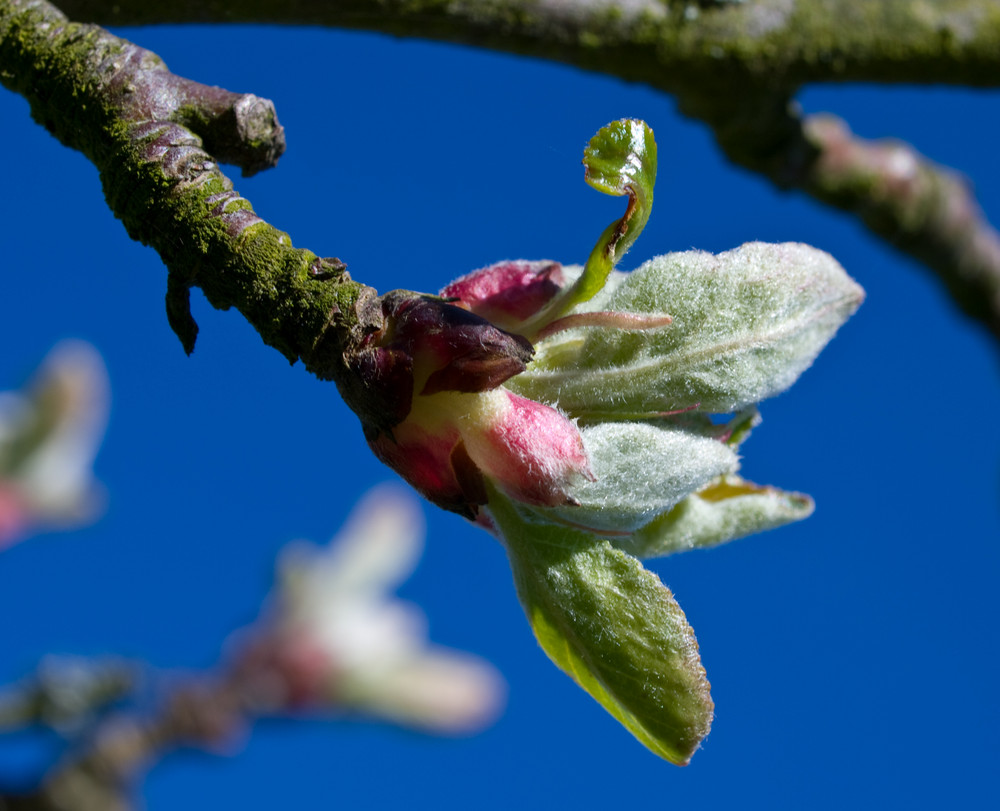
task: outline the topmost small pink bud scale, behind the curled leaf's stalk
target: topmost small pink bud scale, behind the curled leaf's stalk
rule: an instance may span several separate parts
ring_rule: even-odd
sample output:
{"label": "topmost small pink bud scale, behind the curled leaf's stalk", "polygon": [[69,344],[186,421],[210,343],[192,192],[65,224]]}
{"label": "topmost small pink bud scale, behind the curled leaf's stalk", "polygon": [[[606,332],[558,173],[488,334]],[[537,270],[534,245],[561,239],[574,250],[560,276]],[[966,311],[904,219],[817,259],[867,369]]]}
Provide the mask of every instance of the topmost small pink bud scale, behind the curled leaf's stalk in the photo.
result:
{"label": "topmost small pink bud scale, behind the curled leaf's stalk", "polygon": [[518,325],[542,309],[565,283],[558,262],[523,259],[498,262],[474,270],[449,284],[441,295],[505,329]]}

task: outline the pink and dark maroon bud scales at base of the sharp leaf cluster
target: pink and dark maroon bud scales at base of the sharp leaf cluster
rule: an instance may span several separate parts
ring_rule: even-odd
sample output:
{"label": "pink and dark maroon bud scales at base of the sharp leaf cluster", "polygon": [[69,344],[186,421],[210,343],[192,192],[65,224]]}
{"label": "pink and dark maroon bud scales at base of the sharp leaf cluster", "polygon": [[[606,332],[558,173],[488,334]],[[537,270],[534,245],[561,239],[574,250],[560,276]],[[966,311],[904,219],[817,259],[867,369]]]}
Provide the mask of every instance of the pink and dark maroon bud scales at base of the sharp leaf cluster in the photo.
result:
{"label": "pink and dark maroon bud scales at base of the sharp leaf cluster", "polygon": [[[506,317],[531,315],[559,290],[554,262],[505,262],[446,292]],[[356,382],[341,391],[361,417],[375,455],[422,495],[475,520],[487,482],[528,504],[573,503],[591,477],[576,425],[501,384],[531,360],[527,339],[476,312],[397,290],[381,299],[384,324],[348,357]]]}

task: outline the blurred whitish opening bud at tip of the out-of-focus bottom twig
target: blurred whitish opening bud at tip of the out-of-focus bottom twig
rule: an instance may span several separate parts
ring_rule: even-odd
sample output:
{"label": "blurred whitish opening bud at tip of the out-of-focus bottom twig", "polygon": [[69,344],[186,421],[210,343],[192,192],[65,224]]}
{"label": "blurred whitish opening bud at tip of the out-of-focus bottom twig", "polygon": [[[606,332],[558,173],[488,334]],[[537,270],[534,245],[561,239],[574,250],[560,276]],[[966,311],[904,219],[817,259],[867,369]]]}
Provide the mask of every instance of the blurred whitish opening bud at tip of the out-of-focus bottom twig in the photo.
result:
{"label": "blurred whitish opening bud at tip of the out-of-focus bottom twig", "polygon": [[272,712],[356,710],[439,733],[474,732],[498,715],[505,686],[484,660],[432,645],[415,605],[392,590],[423,545],[420,508],[372,491],[327,547],[299,542],[279,563],[258,622],[234,641],[234,673]]}

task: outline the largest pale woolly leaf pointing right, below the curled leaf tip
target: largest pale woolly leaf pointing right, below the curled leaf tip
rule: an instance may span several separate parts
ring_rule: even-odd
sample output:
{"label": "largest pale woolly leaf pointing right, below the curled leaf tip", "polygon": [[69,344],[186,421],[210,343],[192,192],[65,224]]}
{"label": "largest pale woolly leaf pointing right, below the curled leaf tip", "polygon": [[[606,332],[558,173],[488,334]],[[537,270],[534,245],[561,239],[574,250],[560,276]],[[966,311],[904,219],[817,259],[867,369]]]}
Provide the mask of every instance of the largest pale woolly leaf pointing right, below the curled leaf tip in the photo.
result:
{"label": "largest pale woolly leaf pointing right, below the curled leaf tip", "polygon": [[580,417],[734,411],[795,382],[864,298],[831,256],[796,243],[667,254],[608,287],[607,309],[673,323],[542,341],[511,388]]}

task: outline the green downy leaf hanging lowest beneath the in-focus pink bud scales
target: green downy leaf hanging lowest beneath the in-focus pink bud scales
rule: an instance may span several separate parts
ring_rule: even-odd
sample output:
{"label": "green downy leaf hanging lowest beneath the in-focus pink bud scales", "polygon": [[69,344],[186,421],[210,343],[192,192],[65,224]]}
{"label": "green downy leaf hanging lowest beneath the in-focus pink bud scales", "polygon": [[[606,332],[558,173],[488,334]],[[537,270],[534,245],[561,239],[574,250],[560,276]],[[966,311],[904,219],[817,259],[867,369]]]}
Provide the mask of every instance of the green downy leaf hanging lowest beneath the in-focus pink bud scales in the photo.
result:
{"label": "green downy leaf hanging lowest beneath the in-focus pink bud scales", "polygon": [[552,661],[652,752],[686,764],[708,734],[713,703],[670,591],[608,541],[533,521],[497,493],[490,514]]}

